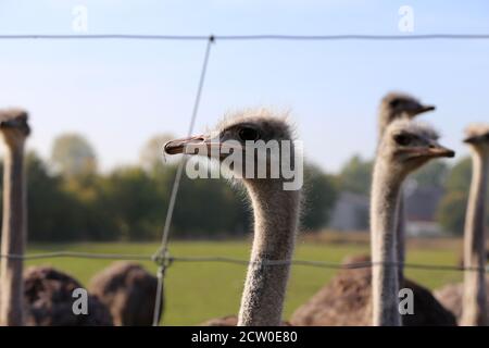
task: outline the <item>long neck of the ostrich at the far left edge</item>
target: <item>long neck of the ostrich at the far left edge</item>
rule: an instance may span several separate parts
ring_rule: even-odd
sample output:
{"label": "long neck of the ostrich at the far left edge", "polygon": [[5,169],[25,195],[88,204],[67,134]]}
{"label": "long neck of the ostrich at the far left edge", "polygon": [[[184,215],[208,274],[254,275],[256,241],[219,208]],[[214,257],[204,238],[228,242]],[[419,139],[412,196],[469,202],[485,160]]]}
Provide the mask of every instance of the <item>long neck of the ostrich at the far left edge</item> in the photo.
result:
{"label": "long neck of the ostrich at the far left edge", "polygon": [[[3,167],[2,254],[24,253],[26,234],[23,146],[8,147]],[[3,259],[0,268],[0,324],[23,324],[23,261]]]}

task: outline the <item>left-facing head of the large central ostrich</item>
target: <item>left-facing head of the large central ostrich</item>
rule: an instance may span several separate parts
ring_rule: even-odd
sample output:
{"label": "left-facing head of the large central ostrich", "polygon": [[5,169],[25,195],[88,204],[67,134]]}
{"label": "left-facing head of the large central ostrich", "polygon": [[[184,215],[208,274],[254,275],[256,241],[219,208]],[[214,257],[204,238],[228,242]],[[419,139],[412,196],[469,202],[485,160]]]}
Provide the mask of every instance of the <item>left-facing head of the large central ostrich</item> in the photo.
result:
{"label": "left-facing head of the large central ostrich", "polygon": [[[287,119],[265,109],[246,110],[228,115],[206,134],[168,141],[164,150],[168,154],[198,154],[217,160],[222,169],[248,184],[290,182],[291,177],[284,175],[281,162],[287,161],[289,167],[297,170],[301,158]],[[274,174],[274,169],[278,173]]]}

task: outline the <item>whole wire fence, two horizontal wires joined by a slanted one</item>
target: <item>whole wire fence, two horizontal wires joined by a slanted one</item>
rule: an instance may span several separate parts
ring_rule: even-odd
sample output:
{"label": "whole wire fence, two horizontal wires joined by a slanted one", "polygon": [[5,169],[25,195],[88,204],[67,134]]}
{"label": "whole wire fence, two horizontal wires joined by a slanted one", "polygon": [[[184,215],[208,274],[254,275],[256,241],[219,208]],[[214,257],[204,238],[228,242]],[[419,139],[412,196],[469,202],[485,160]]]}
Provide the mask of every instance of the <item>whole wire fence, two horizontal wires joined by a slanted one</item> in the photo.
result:
{"label": "whole wire fence, two horizontal wires joined by a slanted one", "polygon": [[[489,34],[425,34],[425,35],[134,35],[134,34],[97,34],[97,35],[47,35],[47,34],[23,34],[23,35],[0,35],[0,40],[23,40],[23,39],[38,39],[38,40],[100,40],[100,39],[115,39],[115,40],[180,40],[180,41],[205,41],[205,51],[201,65],[197,92],[193,101],[192,113],[190,116],[188,135],[190,136],[199,112],[200,100],[205,83],[206,70],[210,61],[210,53],[212,44],[215,41],[239,41],[239,40],[286,40],[286,41],[335,41],[335,40],[489,40]],[[381,263],[381,262],[358,262],[358,263],[335,263],[327,261],[314,260],[262,260],[260,262],[250,262],[249,260],[227,258],[218,256],[202,256],[202,257],[173,257],[168,251],[168,238],[172,225],[173,212],[177,194],[179,189],[183,170],[186,162],[186,156],[180,161],[175,181],[173,183],[171,199],[166,210],[166,217],[162,233],[162,239],[159,250],[152,254],[125,254],[125,253],[91,253],[91,252],[76,252],[76,251],[55,251],[46,253],[32,254],[0,254],[0,259],[15,259],[15,260],[46,260],[53,258],[75,258],[75,259],[93,259],[93,260],[124,260],[124,261],[153,261],[158,264],[158,289],[154,301],[153,325],[156,326],[161,322],[160,308],[163,302],[164,277],[166,270],[174,262],[220,262],[228,264],[251,265],[261,264],[263,266],[279,266],[279,265],[300,265],[313,266],[321,269],[333,270],[358,270],[372,266],[389,266],[398,269],[416,269],[427,271],[448,271],[448,272],[486,272],[489,273],[489,265],[481,268],[466,268],[457,265],[440,265],[440,264],[422,264],[422,263]]]}

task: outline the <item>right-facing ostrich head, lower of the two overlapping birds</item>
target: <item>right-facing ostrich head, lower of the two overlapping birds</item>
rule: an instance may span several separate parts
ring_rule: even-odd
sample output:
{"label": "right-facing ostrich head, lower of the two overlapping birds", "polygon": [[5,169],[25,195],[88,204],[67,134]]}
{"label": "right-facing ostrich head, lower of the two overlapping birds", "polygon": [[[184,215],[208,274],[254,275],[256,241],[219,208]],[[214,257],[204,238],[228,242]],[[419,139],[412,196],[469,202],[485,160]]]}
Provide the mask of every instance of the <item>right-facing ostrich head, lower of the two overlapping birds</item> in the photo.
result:
{"label": "right-facing ostrich head, lower of the two overlapping birds", "polygon": [[380,142],[379,159],[388,161],[400,178],[435,158],[452,158],[455,152],[438,142],[438,134],[428,125],[409,120],[392,122]]}

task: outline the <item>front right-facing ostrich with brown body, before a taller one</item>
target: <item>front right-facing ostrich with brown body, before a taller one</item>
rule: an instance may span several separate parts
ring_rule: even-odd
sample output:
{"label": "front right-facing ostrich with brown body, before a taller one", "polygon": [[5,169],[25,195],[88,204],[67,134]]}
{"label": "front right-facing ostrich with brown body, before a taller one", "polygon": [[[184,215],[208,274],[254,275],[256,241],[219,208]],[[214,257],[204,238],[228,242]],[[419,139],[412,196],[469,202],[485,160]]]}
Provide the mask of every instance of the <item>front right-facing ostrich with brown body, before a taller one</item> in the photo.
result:
{"label": "front right-facing ostrich with brown body, before a taller one", "polygon": [[[428,126],[409,120],[393,121],[377,151],[372,191],[373,269],[341,271],[327,286],[291,316],[292,325],[400,325],[397,263],[396,207],[403,179],[427,161],[454,153],[437,142]],[[361,257],[348,262],[369,262]],[[379,264],[377,264],[379,263]],[[404,325],[455,325],[454,316],[419,285],[402,279],[414,293],[413,315],[403,315]]]}

